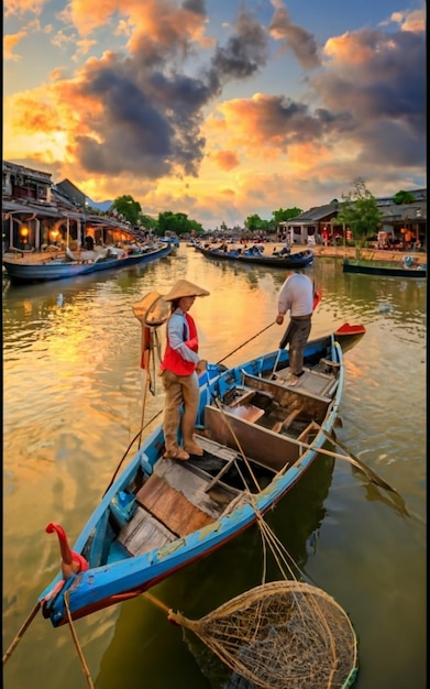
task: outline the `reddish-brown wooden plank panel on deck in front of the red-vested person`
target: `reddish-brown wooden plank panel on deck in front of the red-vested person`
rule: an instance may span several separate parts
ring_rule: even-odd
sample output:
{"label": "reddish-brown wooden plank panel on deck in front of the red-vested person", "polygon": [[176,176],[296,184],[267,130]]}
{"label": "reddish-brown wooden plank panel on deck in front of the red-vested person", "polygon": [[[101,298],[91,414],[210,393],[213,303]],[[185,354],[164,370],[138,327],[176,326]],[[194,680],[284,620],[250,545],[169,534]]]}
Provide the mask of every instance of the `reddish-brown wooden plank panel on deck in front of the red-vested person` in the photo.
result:
{"label": "reddish-brown wooden plank panel on deck in front of the red-vested person", "polygon": [[209,516],[172,488],[162,477],[153,474],[136,494],[137,501],[157,520],[179,536],[187,536],[213,523]]}

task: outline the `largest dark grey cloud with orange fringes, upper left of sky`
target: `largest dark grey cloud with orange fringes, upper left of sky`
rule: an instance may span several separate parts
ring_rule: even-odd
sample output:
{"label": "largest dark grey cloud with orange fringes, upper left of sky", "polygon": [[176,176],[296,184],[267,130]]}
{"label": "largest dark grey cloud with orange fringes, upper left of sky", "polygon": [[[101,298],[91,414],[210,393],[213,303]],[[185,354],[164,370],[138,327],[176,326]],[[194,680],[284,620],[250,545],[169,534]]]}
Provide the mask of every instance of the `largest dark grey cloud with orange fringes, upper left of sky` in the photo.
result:
{"label": "largest dark grey cloud with orange fringes, upper left of sky", "polygon": [[[205,107],[223,84],[246,78],[265,59],[266,35],[252,15],[241,11],[225,47],[217,46],[200,75],[185,74],[177,57],[192,52],[187,35],[200,36],[202,4],[188,2],[169,21],[155,12],[166,10],[166,4],[150,3],[142,12],[141,21],[152,22],[151,39],[140,41],[135,33],[129,57],[112,51],[91,57],[74,79],[52,84],[44,94],[43,102],[51,101],[54,110],[62,103],[73,107],[73,117],[65,121],[67,152],[88,174],[129,173],[146,179],[197,175],[206,146]],[[199,10],[197,15],[190,8]],[[30,98],[15,99],[18,111],[31,109]],[[41,112],[37,103],[34,112]],[[27,128],[42,122],[48,133],[47,119],[34,114]],[[57,119],[52,124],[58,128]],[[62,129],[66,132],[63,122]]]}

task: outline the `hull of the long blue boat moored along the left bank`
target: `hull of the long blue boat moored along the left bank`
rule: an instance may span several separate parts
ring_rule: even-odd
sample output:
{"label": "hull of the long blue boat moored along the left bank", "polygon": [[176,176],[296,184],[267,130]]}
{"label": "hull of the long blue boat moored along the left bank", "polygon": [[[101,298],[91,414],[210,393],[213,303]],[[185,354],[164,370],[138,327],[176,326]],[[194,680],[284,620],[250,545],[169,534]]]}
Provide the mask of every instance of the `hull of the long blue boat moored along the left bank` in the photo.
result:
{"label": "hull of the long blue boat moored along the left bank", "polygon": [[20,259],[3,259],[3,265],[12,283],[37,283],[54,280],[68,280],[78,275],[89,275],[100,271],[117,270],[155,261],[172,253],[172,244],[162,248],[125,255],[124,258],[106,258],[99,261],[65,262],[58,259],[42,262],[24,262]]}

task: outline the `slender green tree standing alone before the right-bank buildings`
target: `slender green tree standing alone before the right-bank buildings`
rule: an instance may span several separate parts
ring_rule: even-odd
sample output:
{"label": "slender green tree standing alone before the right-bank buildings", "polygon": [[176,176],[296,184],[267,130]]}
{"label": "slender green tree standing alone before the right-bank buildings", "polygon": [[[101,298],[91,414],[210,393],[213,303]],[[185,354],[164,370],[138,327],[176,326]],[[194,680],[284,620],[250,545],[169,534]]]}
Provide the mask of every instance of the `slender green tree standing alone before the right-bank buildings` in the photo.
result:
{"label": "slender green tree standing alone before the right-bank buildings", "polygon": [[383,214],[376,205],[376,198],[366,188],[364,179],[354,179],[349,194],[342,194],[337,222],[349,227],[357,247],[382,226]]}

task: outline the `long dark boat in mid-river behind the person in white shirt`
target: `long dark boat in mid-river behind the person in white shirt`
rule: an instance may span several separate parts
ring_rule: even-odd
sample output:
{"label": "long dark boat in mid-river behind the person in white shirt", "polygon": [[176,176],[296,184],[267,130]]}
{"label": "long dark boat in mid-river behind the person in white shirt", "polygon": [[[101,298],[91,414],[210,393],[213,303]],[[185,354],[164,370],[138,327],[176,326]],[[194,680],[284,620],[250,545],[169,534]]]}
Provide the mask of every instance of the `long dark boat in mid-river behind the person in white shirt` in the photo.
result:
{"label": "long dark boat in mid-river behind the person in white shirt", "polygon": [[[257,265],[268,265],[271,267],[283,267],[284,270],[307,267],[313,262],[313,252],[310,249],[297,251],[296,253],[265,254],[264,251],[254,245],[242,251],[241,249],[227,249],[227,244],[211,249],[196,244],[197,251],[200,251],[208,259],[220,259],[221,261],[234,261],[235,263],[255,263]],[[263,247],[264,250],[264,247]]]}

